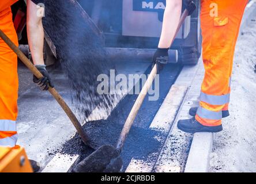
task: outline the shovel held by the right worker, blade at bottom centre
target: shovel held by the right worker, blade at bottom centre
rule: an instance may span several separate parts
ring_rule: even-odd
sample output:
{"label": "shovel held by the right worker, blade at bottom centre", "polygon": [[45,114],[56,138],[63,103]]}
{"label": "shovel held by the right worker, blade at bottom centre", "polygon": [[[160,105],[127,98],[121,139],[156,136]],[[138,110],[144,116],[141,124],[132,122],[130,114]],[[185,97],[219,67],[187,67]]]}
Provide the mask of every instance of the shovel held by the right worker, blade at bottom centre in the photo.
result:
{"label": "shovel held by the right worker, blade at bottom centre", "polygon": [[[186,17],[189,16],[195,10],[194,2],[190,2],[187,5],[185,11],[183,11],[182,16],[180,17],[180,21],[178,24],[178,28],[176,30],[174,39],[176,34],[178,33],[180,27],[185,21]],[[172,42],[174,41],[172,40]],[[137,116],[138,110],[140,109],[146,94],[148,93],[149,87],[152,85],[155,76],[157,74],[156,64],[152,68],[145,85],[142,87],[141,93],[138,95],[133,108],[129,116],[126,119],[125,125],[123,126],[121,135],[119,139],[113,147],[112,145],[103,145],[98,148],[95,152],[89,155],[87,158],[78,163],[74,168],[73,172],[75,173],[117,173],[122,170],[123,162],[120,156],[123,144],[125,143],[126,137],[130,131],[131,126],[133,125],[133,121]]]}

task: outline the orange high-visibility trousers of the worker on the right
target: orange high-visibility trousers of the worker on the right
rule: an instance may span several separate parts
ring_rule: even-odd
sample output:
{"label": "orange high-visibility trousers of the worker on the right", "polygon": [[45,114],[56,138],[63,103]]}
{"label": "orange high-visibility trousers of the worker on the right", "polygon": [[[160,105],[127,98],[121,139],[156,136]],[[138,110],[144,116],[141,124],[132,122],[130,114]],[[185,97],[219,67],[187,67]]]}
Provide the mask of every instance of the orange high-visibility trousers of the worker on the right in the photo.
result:
{"label": "orange high-visibility trousers of the worker on the right", "polygon": [[221,125],[228,110],[235,45],[247,0],[201,0],[202,57],[205,67],[195,119]]}

